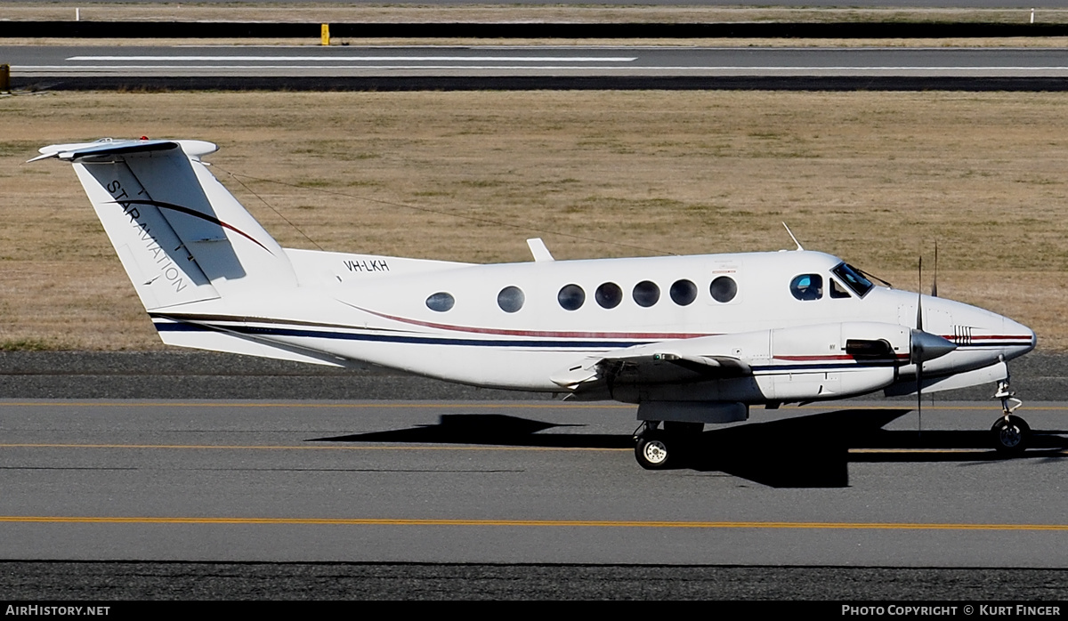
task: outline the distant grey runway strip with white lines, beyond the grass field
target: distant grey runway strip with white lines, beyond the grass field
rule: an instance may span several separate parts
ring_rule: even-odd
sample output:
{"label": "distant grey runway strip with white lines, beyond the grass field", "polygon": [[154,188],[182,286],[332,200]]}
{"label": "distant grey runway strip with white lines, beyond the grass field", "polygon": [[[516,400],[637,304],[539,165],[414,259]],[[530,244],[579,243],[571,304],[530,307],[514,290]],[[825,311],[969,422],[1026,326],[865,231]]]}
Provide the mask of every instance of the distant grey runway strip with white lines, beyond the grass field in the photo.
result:
{"label": "distant grey runway strip with white lines, beyond the grass field", "polygon": [[13,78],[971,77],[1055,78],[1055,48],[0,46]]}

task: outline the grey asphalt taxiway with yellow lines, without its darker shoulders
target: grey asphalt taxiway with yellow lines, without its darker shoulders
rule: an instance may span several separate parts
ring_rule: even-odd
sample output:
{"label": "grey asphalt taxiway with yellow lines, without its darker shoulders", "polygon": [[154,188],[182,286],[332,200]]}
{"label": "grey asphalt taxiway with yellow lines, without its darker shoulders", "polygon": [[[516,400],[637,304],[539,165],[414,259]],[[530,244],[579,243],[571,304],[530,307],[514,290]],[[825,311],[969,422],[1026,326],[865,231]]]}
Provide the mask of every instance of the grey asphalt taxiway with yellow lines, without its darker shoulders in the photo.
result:
{"label": "grey asphalt taxiway with yellow lines, without its darker shoulders", "polygon": [[0,401],[0,558],[1062,568],[1068,404],[755,411],[686,467],[633,408]]}

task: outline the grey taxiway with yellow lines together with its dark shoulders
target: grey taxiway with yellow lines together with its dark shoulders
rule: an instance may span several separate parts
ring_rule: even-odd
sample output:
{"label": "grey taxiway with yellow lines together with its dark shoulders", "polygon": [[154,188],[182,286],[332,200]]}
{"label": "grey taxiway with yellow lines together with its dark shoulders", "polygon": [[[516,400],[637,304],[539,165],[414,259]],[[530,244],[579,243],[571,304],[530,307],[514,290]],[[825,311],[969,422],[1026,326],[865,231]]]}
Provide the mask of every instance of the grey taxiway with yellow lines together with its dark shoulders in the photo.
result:
{"label": "grey taxiway with yellow lines together with its dark shoulders", "polygon": [[[1065,599],[1068,359],[996,410],[753,411],[647,472],[632,407],[374,367],[0,352],[0,592],[20,599]],[[194,398],[197,397],[197,398]],[[414,400],[413,400],[414,399]]]}

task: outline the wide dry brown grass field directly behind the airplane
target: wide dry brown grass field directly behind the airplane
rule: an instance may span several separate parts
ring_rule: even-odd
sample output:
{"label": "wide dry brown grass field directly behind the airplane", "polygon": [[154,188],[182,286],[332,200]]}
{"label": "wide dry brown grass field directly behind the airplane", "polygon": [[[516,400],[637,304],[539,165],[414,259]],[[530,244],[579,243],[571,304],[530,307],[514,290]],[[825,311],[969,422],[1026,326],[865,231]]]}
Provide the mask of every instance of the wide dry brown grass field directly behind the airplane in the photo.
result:
{"label": "wide dry brown grass field directly behind the airplane", "polygon": [[58,93],[0,99],[0,346],[159,347],[69,166],[21,163],[147,134],[218,142],[216,174],[286,245],[311,246],[226,172],[289,184],[245,179],[339,251],[774,250],[785,220],[912,288],[938,239],[943,296],[1068,348],[1068,94]]}

